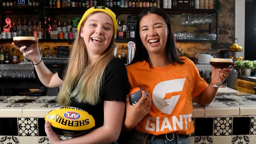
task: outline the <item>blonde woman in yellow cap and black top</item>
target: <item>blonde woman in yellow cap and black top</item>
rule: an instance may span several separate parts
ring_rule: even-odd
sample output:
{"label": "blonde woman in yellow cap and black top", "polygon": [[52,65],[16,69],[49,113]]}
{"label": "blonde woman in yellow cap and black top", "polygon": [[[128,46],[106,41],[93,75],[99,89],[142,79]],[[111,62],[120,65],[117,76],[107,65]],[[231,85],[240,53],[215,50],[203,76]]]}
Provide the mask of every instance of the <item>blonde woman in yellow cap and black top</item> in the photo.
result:
{"label": "blonde woman in yellow cap and black top", "polygon": [[[44,65],[38,39],[28,47],[28,59],[33,61],[41,82],[46,87],[61,86],[58,103],[84,109],[95,119],[93,131],[68,140],[61,140],[46,122],[45,132],[51,144],[103,144],[118,139],[130,86],[124,63],[113,57],[116,31],[117,18],[110,9],[88,9],[78,24],[63,78],[62,72],[53,74]],[[24,53],[25,46],[13,45]]]}

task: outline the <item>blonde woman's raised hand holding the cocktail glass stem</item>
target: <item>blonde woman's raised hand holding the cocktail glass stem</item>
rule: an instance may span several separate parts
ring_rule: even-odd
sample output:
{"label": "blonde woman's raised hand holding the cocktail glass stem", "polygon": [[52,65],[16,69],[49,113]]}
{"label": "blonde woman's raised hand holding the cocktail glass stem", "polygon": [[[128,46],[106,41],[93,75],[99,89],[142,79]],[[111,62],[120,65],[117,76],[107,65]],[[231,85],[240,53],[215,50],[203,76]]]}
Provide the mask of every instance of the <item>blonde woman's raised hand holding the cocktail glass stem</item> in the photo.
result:
{"label": "blonde woman's raised hand holding the cocktail glass stem", "polygon": [[[12,44],[15,48],[20,50],[20,52],[22,52],[23,55],[25,56],[24,49],[26,48],[26,46],[20,47],[17,44],[15,44],[14,42],[12,42]],[[33,63],[39,63],[41,61],[40,52],[39,52],[39,48],[38,48],[38,38],[35,38],[34,46],[29,46],[26,49],[26,51],[27,51],[27,58],[30,59],[31,61],[33,61]]]}

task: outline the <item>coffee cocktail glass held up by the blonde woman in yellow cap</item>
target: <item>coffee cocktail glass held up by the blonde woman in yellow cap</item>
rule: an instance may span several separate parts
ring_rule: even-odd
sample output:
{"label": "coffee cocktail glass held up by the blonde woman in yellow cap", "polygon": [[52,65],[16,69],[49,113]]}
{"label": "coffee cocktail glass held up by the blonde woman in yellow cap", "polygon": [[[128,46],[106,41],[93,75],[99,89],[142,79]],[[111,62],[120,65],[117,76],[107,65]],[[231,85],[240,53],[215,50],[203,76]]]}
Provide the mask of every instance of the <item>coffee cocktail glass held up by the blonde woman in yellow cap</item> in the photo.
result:
{"label": "coffee cocktail glass held up by the blonde woman in yellow cap", "polygon": [[19,65],[22,64],[33,64],[32,62],[29,62],[27,59],[27,48],[35,43],[35,37],[13,37],[13,42],[17,44],[18,46],[26,46],[24,49],[25,56],[23,63],[19,63]]}

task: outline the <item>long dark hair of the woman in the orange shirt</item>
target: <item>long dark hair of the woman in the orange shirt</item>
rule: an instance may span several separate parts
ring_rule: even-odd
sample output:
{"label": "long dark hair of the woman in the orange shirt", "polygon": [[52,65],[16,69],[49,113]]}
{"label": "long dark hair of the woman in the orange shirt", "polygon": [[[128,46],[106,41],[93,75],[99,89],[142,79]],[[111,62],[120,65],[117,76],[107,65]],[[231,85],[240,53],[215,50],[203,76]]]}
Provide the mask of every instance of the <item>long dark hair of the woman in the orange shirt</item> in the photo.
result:
{"label": "long dark hair of the woman in the orange shirt", "polygon": [[182,62],[181,61],[182,59],[180,59],[181,52],[175,46],[174,32],[173,32],[173,27],[171,26],[170,18],[167,16],[167,14],[162,9],[159,9],[156,7],[150,7],[148,9],[144,9],[139,14],[138,21],[136,24],[136,31],[135,31],[136,50],[135,50],[134,59],[132,60],[130,65],[133,63],[136,63],[137,61],[145,60],[149,64],[150,68],[152,68],[147,49],[143,46],[141,37],[139,35],[140,20],[148,13],[154,13],[156,15],[160,15],[161,17],[163,17],[163,19],[165,20],[165,23],[167,24],[168,33],[169,33],[168,37],[167,37],[167,42],[166,42],[167,61],[173,65],[175,65],[175,63],[174,63],[175,61],[179,64],[183,64],[184,62]]}

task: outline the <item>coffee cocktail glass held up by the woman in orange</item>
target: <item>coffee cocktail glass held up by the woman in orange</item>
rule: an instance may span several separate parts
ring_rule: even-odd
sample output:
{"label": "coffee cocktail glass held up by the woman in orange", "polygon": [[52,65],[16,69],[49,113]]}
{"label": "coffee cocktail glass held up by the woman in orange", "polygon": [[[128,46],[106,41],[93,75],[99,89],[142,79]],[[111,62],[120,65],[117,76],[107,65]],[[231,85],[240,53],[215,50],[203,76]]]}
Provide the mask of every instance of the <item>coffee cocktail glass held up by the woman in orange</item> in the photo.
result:
{"label": "coffee cocktail glass held up by the woman in orange", "polygon": [[[210,64],[218,69],[229,68],[230,66],[232,66],[233,60],[232,59],[211,58]],[[221,79],[219,78],[218,83],[213,85],[212,87],[225,87],[225,86],[221,83]]]}

